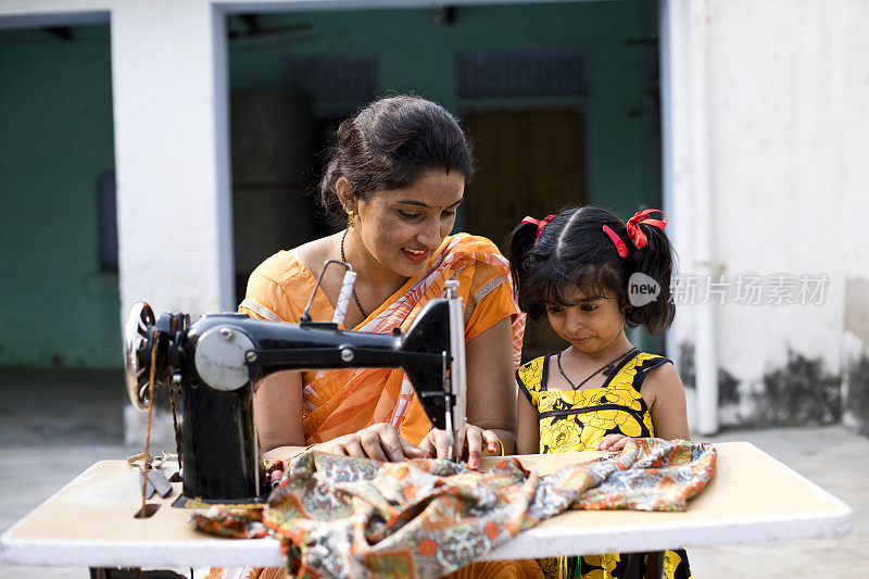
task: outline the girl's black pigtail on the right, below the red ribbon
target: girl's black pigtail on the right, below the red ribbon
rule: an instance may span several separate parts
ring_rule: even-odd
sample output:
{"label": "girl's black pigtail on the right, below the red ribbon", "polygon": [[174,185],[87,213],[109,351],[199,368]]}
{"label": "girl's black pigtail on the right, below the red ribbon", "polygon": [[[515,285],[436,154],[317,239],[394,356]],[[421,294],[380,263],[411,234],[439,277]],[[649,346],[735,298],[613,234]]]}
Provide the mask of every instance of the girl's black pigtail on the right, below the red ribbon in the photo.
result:
{"label": "girl's black pigtail on the right, below the red ribbon", "polygon": [[[626,315],[628,325],[645,326],[653,336],[666,330],[676,316],[676,305],[670,293],[670,279],[673,274],[673,249],[667,234],[653,225],[638,225],[646,237],[646,244],[633,248],[628,256],[631,273],[641,273],[655,280],[660,293],[647,304],[632,306]],[[628,279],[630,284],[630,278]],[[630,294],[631,288],[628,288]]]}

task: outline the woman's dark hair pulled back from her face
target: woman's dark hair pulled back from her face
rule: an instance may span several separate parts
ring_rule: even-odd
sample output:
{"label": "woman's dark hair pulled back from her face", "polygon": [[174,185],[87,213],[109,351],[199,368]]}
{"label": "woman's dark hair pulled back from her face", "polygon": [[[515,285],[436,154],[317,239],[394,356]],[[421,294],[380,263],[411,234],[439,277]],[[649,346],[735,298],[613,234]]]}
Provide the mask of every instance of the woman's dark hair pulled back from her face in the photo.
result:
{"label": "woman's dark hair pulled back from her face", "polygon": [[457,171],[466,184],[474,176],[470,147],[456,119],[419,97],[380,99],[338,127],[319,182],[320,204],[331,215],[344,216],[336,191],[341,177],[355,197],[369,199],[378,190],[407,187],[429,169]]}

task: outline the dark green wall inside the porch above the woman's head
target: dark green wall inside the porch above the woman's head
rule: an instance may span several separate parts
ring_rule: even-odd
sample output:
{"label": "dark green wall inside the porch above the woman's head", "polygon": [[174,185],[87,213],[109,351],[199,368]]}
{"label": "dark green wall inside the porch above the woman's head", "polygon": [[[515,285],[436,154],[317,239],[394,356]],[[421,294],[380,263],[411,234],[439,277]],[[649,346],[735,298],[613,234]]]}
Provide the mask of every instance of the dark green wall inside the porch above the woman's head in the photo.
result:
{"label": "dark green wall inside the porch above the woman's head", "polygon": [[[459,7],[450,25],[434,22],[430,10],[293,12],[261,15],[259,25],[299,29],[230,40],[232,89],[282,88],[287,55],[376,53],[380,93],[413,91],[459,116],[471,109],[580,109],[588,127],[589,202],[622,215],[640,204],[658,202],[659,161],[653,133],[657,111],[648,105],[657,90],[650,66],[657,59],[656,2]],[[229,27],[239,33],[248,29],[236,16]],[[585,51],[589,95],[457,97],[455,52],[516,49]],[[320,105],[314,104],[316,112]]]}

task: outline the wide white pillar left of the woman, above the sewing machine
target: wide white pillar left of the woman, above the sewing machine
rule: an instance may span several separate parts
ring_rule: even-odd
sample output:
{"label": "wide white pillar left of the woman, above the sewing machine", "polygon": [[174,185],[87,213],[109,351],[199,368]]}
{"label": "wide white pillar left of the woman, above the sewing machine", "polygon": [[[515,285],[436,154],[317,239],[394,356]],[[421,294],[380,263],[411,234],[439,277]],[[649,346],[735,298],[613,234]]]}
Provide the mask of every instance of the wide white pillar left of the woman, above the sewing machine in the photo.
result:
{"label": "wide white pillar left of the woman, above the sewing machine", "polygon": [[128,0],[111,25],[122,316],[235,310],[223,13]]}

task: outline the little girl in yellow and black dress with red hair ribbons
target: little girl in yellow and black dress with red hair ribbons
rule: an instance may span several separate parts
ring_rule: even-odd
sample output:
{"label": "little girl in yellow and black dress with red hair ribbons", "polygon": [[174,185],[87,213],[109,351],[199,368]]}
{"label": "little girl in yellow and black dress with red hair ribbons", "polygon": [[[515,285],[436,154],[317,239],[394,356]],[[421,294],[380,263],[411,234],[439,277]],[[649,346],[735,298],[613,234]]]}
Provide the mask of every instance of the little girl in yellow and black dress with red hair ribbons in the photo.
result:
{"label": "little girl in yellow and black dress with red hair ribbons", "polygon": [[[625,335],[626,325],[657,333],[672,322],[666,224],[657,210],[625,224],[584,206],[542,222],[526,217],[514,229],[519,306],[532,319],[545,316],[570,344],[516,373],[525,394],[517,399],[518,453],[617,451],[629,438],[689,438],[684,389],[672,364],[638,351]],[[629,292],[629,280],[646,292]],[[650,302],[655,285],[659,292]],[[551,578],[624,578],[658,561],[613,554],[540,563]],[[660,563],[665,577],[690,577],[684,551],[668,551]]]}

